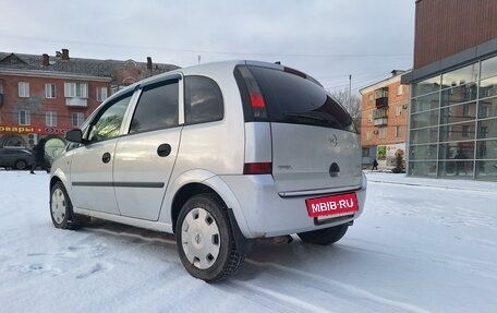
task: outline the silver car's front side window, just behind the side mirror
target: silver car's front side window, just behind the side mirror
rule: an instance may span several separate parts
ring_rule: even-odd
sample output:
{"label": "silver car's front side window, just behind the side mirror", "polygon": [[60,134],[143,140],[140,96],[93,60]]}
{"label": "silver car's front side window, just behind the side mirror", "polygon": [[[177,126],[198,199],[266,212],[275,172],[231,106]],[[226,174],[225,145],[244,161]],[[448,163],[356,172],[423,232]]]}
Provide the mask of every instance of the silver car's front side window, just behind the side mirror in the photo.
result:
{"label": "silver car's front side window, just behind the side mirror", "polygon": [[89,125],[88,142],[95,143],[119,136],[124,113],[133,94],[126,94],[117,98],[109,106],[98,112]]}

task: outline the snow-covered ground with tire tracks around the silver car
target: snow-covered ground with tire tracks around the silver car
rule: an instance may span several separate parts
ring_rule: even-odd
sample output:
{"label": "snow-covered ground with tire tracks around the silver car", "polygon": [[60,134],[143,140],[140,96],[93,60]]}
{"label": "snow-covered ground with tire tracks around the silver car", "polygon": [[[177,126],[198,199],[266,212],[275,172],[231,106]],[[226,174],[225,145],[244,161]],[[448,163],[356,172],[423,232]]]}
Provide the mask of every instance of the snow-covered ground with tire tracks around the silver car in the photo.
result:
{"label": "snow-covered ground with tire tracks around the silver car", "polygon": [[337,244],[259,242],[208,285],[171,234],[56,229],[49,176],[0,170],[0,312],[497,312],[497,183],[367,177]]}

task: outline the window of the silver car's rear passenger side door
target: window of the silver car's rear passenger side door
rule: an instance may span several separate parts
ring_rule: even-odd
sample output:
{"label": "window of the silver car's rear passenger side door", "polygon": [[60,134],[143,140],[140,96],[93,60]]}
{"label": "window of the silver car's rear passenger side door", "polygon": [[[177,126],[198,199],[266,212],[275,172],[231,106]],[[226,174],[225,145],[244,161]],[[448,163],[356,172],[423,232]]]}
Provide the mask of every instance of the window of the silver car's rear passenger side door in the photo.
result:
{"label": "window of the silver car's rear passenger side door", "polygon": [[179,84],[171,80],[143,88],[131,121],[130,133],[147,132],[179,124]]}

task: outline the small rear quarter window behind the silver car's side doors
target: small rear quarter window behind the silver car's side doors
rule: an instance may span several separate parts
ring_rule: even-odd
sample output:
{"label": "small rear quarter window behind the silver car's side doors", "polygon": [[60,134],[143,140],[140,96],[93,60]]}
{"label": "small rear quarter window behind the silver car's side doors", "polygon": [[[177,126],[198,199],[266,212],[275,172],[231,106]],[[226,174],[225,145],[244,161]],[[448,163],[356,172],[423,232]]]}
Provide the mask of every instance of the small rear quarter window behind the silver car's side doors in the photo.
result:
{"label": "small rear quarter window behind the silver car's side doors", "polygon": [[186,124],[222,120],[223,101],[219,86],[209,77],[185,76],[184,118]]}

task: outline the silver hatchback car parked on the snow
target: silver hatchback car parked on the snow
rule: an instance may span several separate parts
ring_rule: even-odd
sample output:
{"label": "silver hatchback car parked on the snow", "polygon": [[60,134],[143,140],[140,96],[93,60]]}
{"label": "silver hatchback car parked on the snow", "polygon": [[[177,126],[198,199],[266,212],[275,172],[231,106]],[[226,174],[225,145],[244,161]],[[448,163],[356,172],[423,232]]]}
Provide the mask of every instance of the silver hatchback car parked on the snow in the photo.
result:
{"label": "silver hatchback car parked on the snow", "polygon": [[57,228],[88,217],[175,233],[194,277],[234,273],[253,239],[328,245],[364,208],[349,113],[311,76],[227,61],[180,69],[108,98],[52,165]]}

